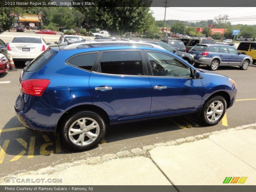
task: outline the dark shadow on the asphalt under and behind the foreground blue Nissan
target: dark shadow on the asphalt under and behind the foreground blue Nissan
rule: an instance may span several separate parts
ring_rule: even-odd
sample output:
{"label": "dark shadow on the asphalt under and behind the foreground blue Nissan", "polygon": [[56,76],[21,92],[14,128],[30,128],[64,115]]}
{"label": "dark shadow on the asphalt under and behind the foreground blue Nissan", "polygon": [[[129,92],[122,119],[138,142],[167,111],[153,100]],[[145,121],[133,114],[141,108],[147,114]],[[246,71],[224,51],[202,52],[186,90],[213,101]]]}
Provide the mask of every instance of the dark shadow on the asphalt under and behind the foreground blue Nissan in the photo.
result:
{"label": "dark shadow on the asphalt under and behind the foreground blue Nissan", "polygon": [[[202,127],[197,120],[190,116],[169,117],[108,127],[104,139],[107,143],[111,143],[119,140],[191,128],[186,127],[187,124],[184,123],[183,117],[190,122],[194,122],[194,127]],[[8,143],[7,147],[6,143]],[[21,151],[25,151],[23,156],[31,155],[31,153],[29,154],[29,150],[31,149],[33,149],[33,156],[50,156],[52,153],[76,153],[76,151],[70,150],[60,141],[59,133],[57,133],[57,140],[54,135],[34,133],[26,129],[16,116],[13,116],[1,130],[0,146],[6,154],[13,156],[17,156]],[[95,148],[98,148],[98,146]]]}

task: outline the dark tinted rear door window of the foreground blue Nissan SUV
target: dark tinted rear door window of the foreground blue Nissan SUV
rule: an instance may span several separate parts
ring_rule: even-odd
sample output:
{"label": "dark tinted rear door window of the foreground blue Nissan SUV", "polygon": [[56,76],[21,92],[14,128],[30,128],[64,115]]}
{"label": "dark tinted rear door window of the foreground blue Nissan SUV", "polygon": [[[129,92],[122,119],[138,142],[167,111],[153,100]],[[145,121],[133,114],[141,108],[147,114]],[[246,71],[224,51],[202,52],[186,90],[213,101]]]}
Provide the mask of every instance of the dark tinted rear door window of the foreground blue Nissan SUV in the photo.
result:
{"label": "dark tinted rear door window of the foreground blue Nissan SUV", "polygon": [[140,51],[103,52],[101,73],[115,75],[143,75]]}

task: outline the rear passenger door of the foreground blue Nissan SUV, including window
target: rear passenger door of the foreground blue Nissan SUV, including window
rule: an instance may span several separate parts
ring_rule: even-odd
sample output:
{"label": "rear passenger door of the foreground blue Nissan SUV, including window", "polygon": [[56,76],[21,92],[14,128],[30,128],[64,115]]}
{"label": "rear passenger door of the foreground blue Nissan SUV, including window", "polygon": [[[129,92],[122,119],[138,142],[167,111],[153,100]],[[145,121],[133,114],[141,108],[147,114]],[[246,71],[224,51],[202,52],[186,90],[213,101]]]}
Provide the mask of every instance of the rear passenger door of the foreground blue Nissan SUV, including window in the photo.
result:
{"label": "rear passenger door of the foreground blue Nissan SUV, including window", "polygon": [[89,84],[93,105],[108,113],[111,124],[149,116],[152,90],[143,51],[100,52]]}

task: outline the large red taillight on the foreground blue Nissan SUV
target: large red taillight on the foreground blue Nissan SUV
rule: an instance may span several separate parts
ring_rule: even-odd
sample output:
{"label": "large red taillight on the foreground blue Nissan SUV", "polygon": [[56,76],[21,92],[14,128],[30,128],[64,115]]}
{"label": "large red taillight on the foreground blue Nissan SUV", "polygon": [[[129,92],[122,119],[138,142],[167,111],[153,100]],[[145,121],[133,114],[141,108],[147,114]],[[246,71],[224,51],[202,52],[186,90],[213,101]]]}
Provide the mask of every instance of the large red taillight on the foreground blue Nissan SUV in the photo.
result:
{"label": "large red taillight on the foreground blue Nissan SUV", "polygon": [[20,82],[20,91],[28,95],[41,96],[49,84],[49,79],[29,79]]}

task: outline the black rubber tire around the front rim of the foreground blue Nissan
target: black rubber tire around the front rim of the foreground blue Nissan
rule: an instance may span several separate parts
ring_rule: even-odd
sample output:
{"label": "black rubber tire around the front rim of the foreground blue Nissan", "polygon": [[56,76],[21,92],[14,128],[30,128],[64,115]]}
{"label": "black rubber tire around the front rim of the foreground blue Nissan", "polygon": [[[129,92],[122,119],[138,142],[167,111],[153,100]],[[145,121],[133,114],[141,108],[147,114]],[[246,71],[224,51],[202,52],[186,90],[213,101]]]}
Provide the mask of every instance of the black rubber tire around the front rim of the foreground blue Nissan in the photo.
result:
{"label": "black rubber tire around the front rim of the foreground blue Nissan", "polygon": [[[214,112],[214,116],[217,118],[216,121],[211,122],[208,118],[207,118],[207,112],[211,112],[212,108],[210,107],[210,105],[213,103],[215,105],[215,103],[217,104],[218,101],[221,101],[223,104],[223,112],[221,115],[217,115],[217,117],[215,116],[215,112]],[[211,109],[210,109],[211,108]],[[220,107],[221,108],[221,107]],[[219,109],[220,109],[219,108]],[[209,111],[210,109],[210,111]],[[207,100],[204,103],[204,107],[201,111],[200,114],[200,121],[207,125],[207,126],[212,126],[212,125],[216,125],[219,123],[219,121],[222,119],[222,117],[224,116],[224,114],[226,113],[226,109],[227,109],[227,102],[226,100],[222,97],[222,96],[214,96],[211,99]],[[212,118],[212,115],[209,116],[209,118]]]}

